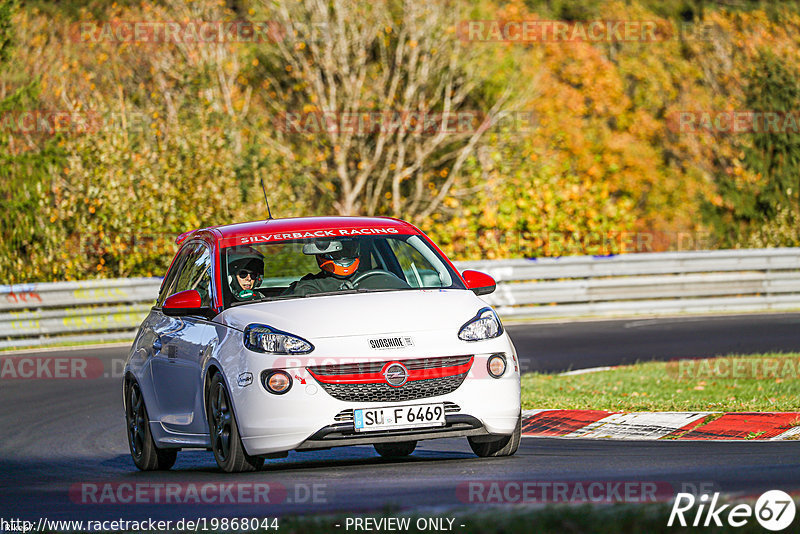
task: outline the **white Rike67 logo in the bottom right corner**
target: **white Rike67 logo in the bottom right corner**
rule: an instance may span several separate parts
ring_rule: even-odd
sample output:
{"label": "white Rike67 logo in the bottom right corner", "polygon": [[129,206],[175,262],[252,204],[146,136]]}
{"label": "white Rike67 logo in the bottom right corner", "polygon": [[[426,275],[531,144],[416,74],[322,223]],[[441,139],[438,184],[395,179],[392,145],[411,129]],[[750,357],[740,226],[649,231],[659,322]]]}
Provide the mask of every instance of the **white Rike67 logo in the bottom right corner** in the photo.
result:
{"label": "white Rike67 logo in the bottom right corner", "polygon": [[[746,503],[732,506],[730,504],[718,505],[719,493],[701,495],[696,498],[691,493],[678,493],[669,514],[667,526],[677,524],[682,527],[723,526],[723,521],[732,527],[742,527],[753,517],[767,530],[777,532],[783,530],[794,521],[795,504],[792,497],[781,490],[771,490],[758,498],[755,506]],[[697,510],[692,511],[695,504]],[[687,521],[688,517],[688,521]]]}

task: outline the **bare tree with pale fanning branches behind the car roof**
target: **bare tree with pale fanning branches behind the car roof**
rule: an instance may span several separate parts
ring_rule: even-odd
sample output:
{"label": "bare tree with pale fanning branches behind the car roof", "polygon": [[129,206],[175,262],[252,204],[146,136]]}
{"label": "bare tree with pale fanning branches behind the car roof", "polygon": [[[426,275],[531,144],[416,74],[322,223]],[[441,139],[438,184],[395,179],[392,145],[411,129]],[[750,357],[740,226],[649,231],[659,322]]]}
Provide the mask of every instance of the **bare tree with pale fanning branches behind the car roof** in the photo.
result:
{"label": "bare tree with pale fanning branches behind the car roof", "polygon": [[[341,214],[419,221],[435,212],[511,105],[510,91],[486,87],[481,50],[459,39],[458,3],[303,0],[266,9],[283,30],[259,57],[276,118],[270,141]],[[465,118],[468,127],[455,124]]]}

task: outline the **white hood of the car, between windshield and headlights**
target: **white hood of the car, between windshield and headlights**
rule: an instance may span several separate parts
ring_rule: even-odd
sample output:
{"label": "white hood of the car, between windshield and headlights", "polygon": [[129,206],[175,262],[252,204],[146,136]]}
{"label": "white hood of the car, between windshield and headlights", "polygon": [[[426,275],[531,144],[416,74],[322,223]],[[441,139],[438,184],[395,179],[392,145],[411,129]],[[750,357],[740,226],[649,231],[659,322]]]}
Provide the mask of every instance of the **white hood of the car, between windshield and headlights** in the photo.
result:
{"label": "white hood of the car, between windshield and headlights", "polygon": [[406,290],[259,302],[225,310],[217,320],[239,330],[266,324],[306,338],[457,332],[486,306],[468,290]]}

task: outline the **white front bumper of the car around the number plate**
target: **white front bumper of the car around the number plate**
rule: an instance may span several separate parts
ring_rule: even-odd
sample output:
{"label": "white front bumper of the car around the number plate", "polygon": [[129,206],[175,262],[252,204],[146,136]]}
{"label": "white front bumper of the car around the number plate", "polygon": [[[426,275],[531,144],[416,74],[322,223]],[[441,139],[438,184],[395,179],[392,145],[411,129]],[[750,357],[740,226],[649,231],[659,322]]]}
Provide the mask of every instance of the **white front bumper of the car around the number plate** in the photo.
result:
{"label": "white front bumper of the car around the number plate", "polygon": [[[229,377],[245,450],[260,455],[393,441],[509,435],[514,432],[520,413],[520,377],[513,345],[503,334],[473,346],[479,353],[474,355],[470,374],[455,391],[401,402],[338,400],[304,373],[305,368],[286,369],[294,377],[294,383],[283,395],[268,393],[257,379],[246,387],[238,387],[235,378]],[[508,356],[508,368],[501,378],[491,378],[482,370],[489,356],[497,352]],[[253,374],[260,376],[255,371]],[[343,412],[356,409],[420,403],[445,403],[446,425],[357,433],[352,420],[342,417]]]}

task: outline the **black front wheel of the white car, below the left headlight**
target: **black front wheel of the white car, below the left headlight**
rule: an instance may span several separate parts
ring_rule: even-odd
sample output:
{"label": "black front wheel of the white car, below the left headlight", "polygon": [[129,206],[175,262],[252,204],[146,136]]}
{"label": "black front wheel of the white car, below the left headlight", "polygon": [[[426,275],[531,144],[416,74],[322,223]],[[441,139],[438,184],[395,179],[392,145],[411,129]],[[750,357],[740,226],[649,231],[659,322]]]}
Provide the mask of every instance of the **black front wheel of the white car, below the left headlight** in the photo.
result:
{"label": "black front wheel of the white car, below the left headlight", "polygon": [[214,452],[214,458],[217,460],[219,468],[226,473],[243,473],[261,469],[261,466],[264,465],[264,458],[250,456],[244,450],[228,387],[220,373],[216,373],[211,379],[206,397],[206,414],[208,415],[211,450]]}

